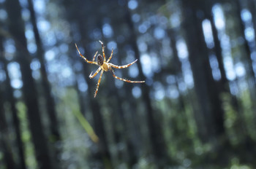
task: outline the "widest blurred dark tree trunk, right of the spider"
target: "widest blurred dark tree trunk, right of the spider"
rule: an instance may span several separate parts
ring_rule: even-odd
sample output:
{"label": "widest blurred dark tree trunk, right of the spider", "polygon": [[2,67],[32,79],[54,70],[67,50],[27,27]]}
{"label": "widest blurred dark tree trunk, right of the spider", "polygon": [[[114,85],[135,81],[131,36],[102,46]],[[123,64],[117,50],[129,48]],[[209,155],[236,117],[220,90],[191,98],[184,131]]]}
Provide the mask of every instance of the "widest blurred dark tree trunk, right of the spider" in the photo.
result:
{"label": "widest blurred dark tree trunk, right of the spider", "polygon": [[200,127],[206,126],[205,130],[201,132],[203,134],[201,138],[203,141],[210,141],[209,139],[214,136],[225,134],[224,111],[219,98],[219,90],[211,73],[208,51],[204,42],[203,16],[197,17],[200,1],[183,1],[183,6],[186,17],[184,29],[187,36],[189,62],[194,77],[197,101],[200,105],[200,114],[203,117],[203,122],[199,123],[198,129],[202,130]]}

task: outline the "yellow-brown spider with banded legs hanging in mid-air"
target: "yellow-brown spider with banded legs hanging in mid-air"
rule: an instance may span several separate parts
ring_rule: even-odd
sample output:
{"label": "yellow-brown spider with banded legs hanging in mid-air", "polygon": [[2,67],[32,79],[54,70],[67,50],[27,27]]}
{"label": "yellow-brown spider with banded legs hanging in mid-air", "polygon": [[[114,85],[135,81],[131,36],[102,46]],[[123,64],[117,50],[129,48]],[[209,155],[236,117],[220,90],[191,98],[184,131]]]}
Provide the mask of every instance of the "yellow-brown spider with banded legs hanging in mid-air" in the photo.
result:
{"label": "yellow-brown spider with banded legs hanging in mid-air", "polygon": [[[90,60],[87,60],[86,57],[84,57],[80,51],[78,50],[78,46],[77,44],[75,44],[75,47],[77,48],[78,50],[78,53],[80,55],[80,57],[82,57],[84,60],[86,60],[87,63],[91,63],[91,64],[95,64],[97,66],[99,66],[99,68],[97,69],[97,71],[95,71],[94,74],[91,74],[89,75],[89,78],[92,79],[94,78],[94,76],[96,76],[99,71],[100,71],[100,76],[99,76],[99,80],[98,80],[98,83],[97,83],[97,87],[96,87],[96,90],[95,90],[95,93],[94,93],[94,98],[96,97],[97,95],[97,92],[98,92],[98,89],[99,89],[99,83],[100,83],[100,80],[102,79],[102,74],[104,71],[110,71],[112,73],[112,75],[116,78],[116,79],[119,79],[119,80],[122,80],[124,82],[129,82],[129,83],[144,83],[145,81],[131,81],[131,80],[128,80],[128,79],[123,79],[121,77],[118,77],[116,76],[116,74],[114,73],[113,71],[113,68],[127,68],[129,66],[132,66],[133,63],[135,63],[137,61],[137,59],[135,61],[133,61],[132,63],[129,63],[127,65],[124,65],[124,66],[116,66],[114,65],[113,63],[109,63],[110,59],[112,58],[112,55],[113,55],[113,49],[112,49],[112,52],[111,52],[111,55],[110,57],[108,58],[108,60],[106,61],[106,58],[105,58],[105,51],[104,51],[104,45],[103,45],[103,42],[99,41],[101,44],[102,44],[102,54],[103,54],[103,57],[102,55],[97,55],[98,51],[95,53],[94,55],[94,58],[92,59],[92,61]],[[95,57],[97,55],[97,62],[94,61]],[[113,67],[113,68],[112,68]]]}

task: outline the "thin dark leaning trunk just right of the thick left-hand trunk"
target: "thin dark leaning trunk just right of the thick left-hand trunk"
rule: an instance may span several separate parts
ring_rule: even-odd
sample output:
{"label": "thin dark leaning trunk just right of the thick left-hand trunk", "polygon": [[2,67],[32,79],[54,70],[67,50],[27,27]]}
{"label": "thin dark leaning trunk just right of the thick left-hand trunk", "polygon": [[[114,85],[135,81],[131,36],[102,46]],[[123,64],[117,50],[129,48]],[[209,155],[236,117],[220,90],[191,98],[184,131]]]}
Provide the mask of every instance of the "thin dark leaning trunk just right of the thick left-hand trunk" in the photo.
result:
{"label": "thin dark leaning trunk just right of the thick left-hand trunk", "polygon": [[50,84],[48,81],[48,76],[45,68],[45,60],[44,60],[44,50],[42,47],[42,41],[39,36],[39,31],[37,28],[37,18],[34,12],[34,5],[32,0],[28,0],[29,2],[29,11],[31,14],[31,23],[33,25],[34,37],[37,44],[37,57],[39,58],[39,62],[41,65],[40,71],[42,75],[42,87],[44,90],[45,101],[46,101],[46,109],[48,113],[48,119],[50,121],[50,141],[53,143],[53,152],[55,153],[56,162],[59,161],[59,153],[60,150],[56,148],[54,144],[61,140],[61,135],[59,133],[59,122],[56,116],[55,103],[53,100],[53,96],[51,95]]}

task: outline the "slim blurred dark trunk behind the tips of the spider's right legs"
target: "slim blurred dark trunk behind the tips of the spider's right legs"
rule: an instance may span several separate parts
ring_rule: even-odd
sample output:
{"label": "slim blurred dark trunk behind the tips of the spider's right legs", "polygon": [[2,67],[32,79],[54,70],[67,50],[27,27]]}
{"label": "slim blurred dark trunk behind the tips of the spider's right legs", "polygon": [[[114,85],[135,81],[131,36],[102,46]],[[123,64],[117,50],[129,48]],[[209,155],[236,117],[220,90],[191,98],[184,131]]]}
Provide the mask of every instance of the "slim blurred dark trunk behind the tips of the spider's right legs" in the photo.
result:
{"label": "slim blurred dark trunk behind the tips of the spider's right legs", "polygon": [[[124,7],[125,9],[125,20],[127,22],[129,31],[130,31],[130,39],[129,39],[129,44],[132,45],[132,49],[135,52],[135,58],[138,59],[138,71],[139,71],[139,76],[140,79],[146,79],[146,76],[143,75],[142,71],[142,66],[140,63],[140,52],[138,50],[138,45],[137,45],[137,36],[135,33],[135,28],[134,24],[132,23],[131,19],[131,14],[129,12],[129,8],[126,6]],[[152,152],[155,158],[155,162],[159,167],[161,168],[163,165],[167,165],[167,163],[170,163],[169,157],[167,157],[167,147],[165,144],[164,136],[162,133],[162,127],[157,121],[159,119],[157,117],[157,111],[154,111],[154,109],[151,106],[151,100],[149,97],[149,87],[147,84],[142,84],[143,86],[141,87],[142,90],[142,97],[143,101],[146,106],[146,120],[147,120],[147,127],[148,127],[148,132],[149,132],[149,137],[151,141],[151,148]]]}

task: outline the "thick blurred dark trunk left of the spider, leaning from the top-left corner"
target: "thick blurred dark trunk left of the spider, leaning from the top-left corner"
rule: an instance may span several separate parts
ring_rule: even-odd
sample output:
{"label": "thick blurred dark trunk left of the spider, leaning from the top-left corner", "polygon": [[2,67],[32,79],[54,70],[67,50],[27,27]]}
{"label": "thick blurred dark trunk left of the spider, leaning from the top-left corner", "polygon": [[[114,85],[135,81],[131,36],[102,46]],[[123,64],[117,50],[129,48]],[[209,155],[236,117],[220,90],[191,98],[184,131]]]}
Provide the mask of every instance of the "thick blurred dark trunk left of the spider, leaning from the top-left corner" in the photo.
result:
{"label": "thick blurred dark trunk left of the spider, leaning from the top-left corner", "polygon": [[42,122],[39,115],[37,90],[34,79],[31,76],[29,51],[25,37],[24,23],[21,18],[21,8],[18,0],[6,1],[8,13],[8,25],[10,34],[15,40],[17,47],[17,60],[20,63],[20,71],[23,81],[23,98],[26,103],[29,125],[34,143],[34,149],[39,168],[51,168],[50,154],[48,153],[47,141],[43,133]]}

